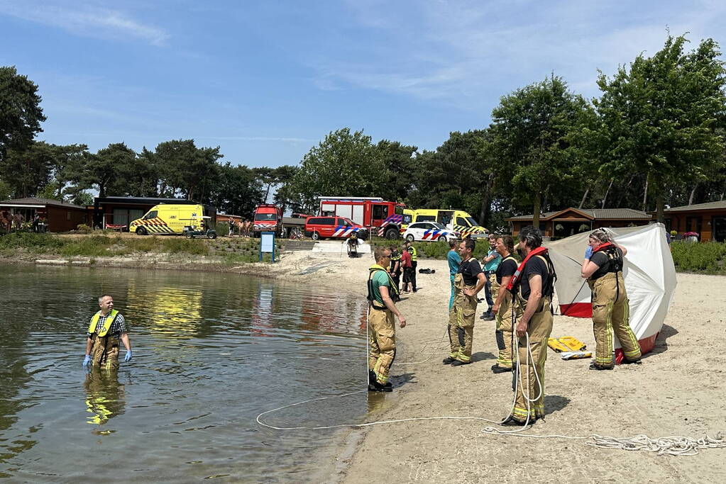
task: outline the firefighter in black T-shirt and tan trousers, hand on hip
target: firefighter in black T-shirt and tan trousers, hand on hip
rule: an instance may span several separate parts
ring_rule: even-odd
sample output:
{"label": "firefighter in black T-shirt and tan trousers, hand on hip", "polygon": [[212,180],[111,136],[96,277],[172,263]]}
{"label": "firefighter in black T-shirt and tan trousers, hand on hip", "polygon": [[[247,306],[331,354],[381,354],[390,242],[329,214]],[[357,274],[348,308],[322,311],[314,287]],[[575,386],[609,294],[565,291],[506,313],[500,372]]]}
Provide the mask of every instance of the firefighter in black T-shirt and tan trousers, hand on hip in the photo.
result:
{"label": "firefighter in black T-shirt and tan trousers, hand on hip", "polygon": [[454,276],[454,305],[449,309],[449,343],[451,352],[444,364],[459,367],[471,363],[471,345],[474,339],[474,314],[476,295],[484,288],[486,276],[478,260],[471,254],[476,248],[473,239],[459,244],[461,265]]}

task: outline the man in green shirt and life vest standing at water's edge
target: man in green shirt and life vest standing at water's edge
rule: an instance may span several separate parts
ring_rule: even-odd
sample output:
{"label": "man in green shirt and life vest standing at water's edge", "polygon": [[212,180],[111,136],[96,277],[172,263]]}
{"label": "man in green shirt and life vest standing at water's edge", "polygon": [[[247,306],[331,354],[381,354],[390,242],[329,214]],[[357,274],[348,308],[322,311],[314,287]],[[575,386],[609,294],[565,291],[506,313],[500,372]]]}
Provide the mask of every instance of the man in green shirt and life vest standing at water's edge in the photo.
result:
{"label": "man in green shirt and life vest standing at water's edge", "polygon": [[391,391],[393,385],[388,381],[391,365],[396,359],[396,320],[401,328],[406,327],[406,318],[393,304],[391,296],[398,296],[396,283],[391,279],[386,267],[391,265],[391,251],[376,247],[375,264],[368,273],[368,390]]}

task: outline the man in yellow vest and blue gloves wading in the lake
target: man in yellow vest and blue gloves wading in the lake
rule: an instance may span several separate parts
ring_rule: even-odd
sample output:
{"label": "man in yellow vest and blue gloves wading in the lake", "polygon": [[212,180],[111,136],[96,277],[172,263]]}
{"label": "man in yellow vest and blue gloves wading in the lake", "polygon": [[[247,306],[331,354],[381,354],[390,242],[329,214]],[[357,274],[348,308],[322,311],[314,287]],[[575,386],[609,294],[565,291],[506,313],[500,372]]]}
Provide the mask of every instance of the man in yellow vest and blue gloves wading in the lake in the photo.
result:
{"label": "man in yellow vest and blue gloves wading in the lake", "polygon": [[98,368],[115,370],[118,368],[118,340],[126,347],[124,362],[131,359],[131,342],[126,333],[126,320],[123,315],[113,309],[113,297],[104,294],[99,297],[101,310],[91,317],[86,335],[86,357],[83,366],[93,364]]}

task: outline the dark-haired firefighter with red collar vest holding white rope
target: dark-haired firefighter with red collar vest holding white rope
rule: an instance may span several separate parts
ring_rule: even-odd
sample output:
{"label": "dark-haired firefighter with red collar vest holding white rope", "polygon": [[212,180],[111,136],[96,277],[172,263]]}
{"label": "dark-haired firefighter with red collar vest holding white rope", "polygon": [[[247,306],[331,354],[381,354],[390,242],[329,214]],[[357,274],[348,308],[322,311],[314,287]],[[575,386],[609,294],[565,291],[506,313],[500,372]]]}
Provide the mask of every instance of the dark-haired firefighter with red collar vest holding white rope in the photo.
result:
{"label": "dark-haired firefighter with red collar vest holding white rope", "polygon": [[556,275],[547,249],[542,247],[542,233],[531,225],[523,228],[518,246],[524,259],[507,291],[518,299],[522,310],[515,326],[520,366],[515,373],[514,408],[502,425],[527,425],[544,418],[544,362],[552,333]]}

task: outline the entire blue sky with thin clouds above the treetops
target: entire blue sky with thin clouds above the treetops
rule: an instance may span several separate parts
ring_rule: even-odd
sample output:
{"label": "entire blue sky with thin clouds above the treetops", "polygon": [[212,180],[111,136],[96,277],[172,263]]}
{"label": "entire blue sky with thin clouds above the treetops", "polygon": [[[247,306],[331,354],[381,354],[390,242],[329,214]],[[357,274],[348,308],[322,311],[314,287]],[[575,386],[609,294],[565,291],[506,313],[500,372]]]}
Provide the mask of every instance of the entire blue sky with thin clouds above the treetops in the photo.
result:
{"label": "entire blue sky with thin clouds above the treetops", "polygon": [[726,48],[724,1],[0,0],[0,65],[36,82],[38,138],[194,138],[296,164],[338,128],[436,149],[551,72],[588,98],[666,29]]}

